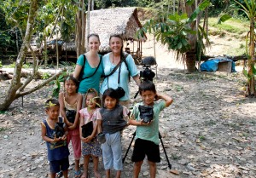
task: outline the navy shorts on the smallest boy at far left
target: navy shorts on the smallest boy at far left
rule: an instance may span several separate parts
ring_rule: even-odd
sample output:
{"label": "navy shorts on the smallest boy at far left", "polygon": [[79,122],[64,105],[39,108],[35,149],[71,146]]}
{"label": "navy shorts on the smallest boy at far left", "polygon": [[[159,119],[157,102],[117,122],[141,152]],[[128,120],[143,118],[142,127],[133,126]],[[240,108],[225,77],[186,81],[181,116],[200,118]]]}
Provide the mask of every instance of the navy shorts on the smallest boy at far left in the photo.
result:
{"label": "navy shorts on the smallest boy at far left", "polygon": [[67,170],[69,167],[69,160],[67,158],[63,158],[61,160],[54,160],[49,162],[49,171],[50,173],[57,173],[61,170]]}

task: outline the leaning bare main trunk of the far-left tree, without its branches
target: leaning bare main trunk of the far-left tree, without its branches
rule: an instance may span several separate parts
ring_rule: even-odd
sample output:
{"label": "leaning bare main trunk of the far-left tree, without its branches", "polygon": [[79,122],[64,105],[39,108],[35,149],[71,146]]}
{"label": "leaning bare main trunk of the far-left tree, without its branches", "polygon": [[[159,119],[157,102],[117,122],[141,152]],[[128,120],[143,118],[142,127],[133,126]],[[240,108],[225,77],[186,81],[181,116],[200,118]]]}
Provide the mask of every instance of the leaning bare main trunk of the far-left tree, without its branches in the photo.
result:
{"label": "leaning bare main trunk of the far-left tree, without its branches", "polygon": [[28,19],[26,24],[26,34],[24,37],[24,41],[21,45],[19,55],[17,56],[17,59],[16,59],[15,75],[9,85],[9,89],[5,94],[5,98],[0,103],[0,111],[7,110],[9,108],[11,103],[17,98],[16,91],[21,86],[20,72],[21,72],[22,64],[25,60],[25,53],[27,51],[28,43],[30,43],[31,41],[33,24],[38,11],[38,0],[31,0],[30,2],[31,2],[30,9],[29,9]]}

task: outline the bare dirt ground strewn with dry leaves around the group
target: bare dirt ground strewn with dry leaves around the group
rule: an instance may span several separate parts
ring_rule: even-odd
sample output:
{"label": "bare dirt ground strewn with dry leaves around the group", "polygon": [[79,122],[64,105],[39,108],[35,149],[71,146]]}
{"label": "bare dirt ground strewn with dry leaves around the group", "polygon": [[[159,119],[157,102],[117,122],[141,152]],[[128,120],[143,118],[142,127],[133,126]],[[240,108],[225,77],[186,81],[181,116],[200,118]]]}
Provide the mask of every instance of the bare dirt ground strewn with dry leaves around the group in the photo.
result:
{"label": "bare dirt ground strewn with dry leaves around the group", "polygon": [[[211,49],[216,51],[213,55],[224,54],[222,45],[232,48],[232,44],[225,44],[224,41],[212,41],[216,44]],[[143,54],[154,55],[151,39],[143,44]],[[174,55],[159,43],[156,44],[156,54],[158,68],[154,83],[159,92],[171,95],[174,100],[172,106],[160,114],[160,134],[172,170],[168,168],[160,144],[162,159],[158,164],[157,177],[255,177],[256,100],[243,95],[245,79],[241,70],[236,73],[188,74],[184,72],[183,64],[175,62]],[[237,66],[236,69],[239,68]],[[1,98],[9,82],[0,82]],[[40,81],[28,87],[33,87],[35,83]],[[48,177],[47,149],[41,139],[40,122],[45,118],[43,103],[51,88],[46,86],[26,95],[23,101],[21,98],[15,100],[9,111],[1,112],[0,178]],[[137,87],[131,82],[131,96],[136,92]],[[131,101],[134,103],[140,98],[138,96]],[[129,126],[124,131],[124,155],[134,130],[134,126]],[[71,153],[69,177],[73,177],[72,149]],[[125,178],[132,177],[131,153],[132,147],[125,159],[122,173]],[[104,177],[102,162],[100,171]],[[94,177],[92,169],[90,177]],[[149,177],[146,161],[140,177]]]}

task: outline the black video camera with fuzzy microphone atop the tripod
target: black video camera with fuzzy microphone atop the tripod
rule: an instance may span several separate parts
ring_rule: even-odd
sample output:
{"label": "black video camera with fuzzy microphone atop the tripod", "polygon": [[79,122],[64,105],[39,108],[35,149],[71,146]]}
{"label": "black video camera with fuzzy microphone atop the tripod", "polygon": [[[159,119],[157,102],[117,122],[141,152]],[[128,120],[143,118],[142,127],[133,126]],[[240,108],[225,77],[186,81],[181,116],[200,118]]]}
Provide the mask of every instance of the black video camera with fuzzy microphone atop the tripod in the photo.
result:
{"label": "black video camera with fuzzy microphone atop the tripod", "polygon": [[141,64],[143,65],[143,71],[140,71],[141,82],[146,81],[146,80],[150,80],[151,82],[153,82],[155,73],[151,70],[151,66],[156,65],[156,61],[155,61],[154,57],[152,57],[152,56],[145,57],[142,60]]}

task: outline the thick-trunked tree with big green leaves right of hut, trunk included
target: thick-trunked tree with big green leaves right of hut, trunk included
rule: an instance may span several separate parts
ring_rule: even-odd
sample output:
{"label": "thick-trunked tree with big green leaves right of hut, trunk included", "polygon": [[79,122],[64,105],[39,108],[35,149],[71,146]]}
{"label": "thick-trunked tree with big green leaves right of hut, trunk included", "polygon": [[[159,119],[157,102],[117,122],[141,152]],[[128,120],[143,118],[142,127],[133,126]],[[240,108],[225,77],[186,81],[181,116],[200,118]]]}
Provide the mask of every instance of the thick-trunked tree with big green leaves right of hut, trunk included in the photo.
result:
{"label": "thick-trunked tree with big green leaves right of hut, trunk included", "polygon": [[185,61],[189,72],[194,72],[195,60],[200,60],[204,49],[203,38],[207,39],[207,33],[198,24],[199,16],[209,5],[210,2],[204,0],[195,8],[195,1],[188,1],[181,6],[184,13],[160,15],[148,20],[137,35],[143,37],[143,33],[153,33],[157,41],[177,52],[177,60]]}

